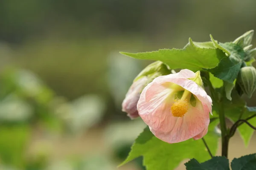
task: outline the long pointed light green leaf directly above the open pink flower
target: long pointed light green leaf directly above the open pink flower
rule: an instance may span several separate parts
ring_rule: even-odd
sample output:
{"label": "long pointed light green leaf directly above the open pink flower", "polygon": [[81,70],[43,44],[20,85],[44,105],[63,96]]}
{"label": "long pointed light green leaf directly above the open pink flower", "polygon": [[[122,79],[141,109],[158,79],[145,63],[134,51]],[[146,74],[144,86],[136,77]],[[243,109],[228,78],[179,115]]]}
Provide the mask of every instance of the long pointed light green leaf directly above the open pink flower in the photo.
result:
{"label": "long pointed light green leaf directly above the open pink flower", "polygon": [[[206,47],[207,46],[207,47]],[[204,47],[204,48],[203,48]],[[195,43],[189,38],[189,43],[183,49],[160,49],[158,51],[144,53],[125,53],[129,57],[136,59],[159,60],[170,68],[187,68],[192,71],[202,70],[202,68],[214,68],[225,54],[214,48],[209,48],[209,42]]]}

